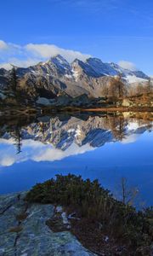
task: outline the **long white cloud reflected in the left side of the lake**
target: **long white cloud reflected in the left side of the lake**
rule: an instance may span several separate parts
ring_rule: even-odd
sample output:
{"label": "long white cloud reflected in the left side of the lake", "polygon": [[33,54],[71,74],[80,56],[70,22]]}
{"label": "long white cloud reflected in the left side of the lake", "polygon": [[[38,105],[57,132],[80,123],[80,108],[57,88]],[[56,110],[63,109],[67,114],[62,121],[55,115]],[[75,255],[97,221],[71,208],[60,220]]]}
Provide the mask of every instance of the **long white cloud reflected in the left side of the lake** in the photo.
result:
{"label": "long white cloud reflected in the left side of the lake", "polygon": [[14,163],[20,163],[26,160],[34,161],[54,161],[62,160],[65,157],[77,154],[83,154],[92,151],[95,148],[91,147],[88,143],[79,147],[76,143],[72,143],[65,151],[54,148],[52,144],[44,144],[34,140],[23,140],[22,153],[16,154],[13,139],[0,139],[0,166],[12,166]]}

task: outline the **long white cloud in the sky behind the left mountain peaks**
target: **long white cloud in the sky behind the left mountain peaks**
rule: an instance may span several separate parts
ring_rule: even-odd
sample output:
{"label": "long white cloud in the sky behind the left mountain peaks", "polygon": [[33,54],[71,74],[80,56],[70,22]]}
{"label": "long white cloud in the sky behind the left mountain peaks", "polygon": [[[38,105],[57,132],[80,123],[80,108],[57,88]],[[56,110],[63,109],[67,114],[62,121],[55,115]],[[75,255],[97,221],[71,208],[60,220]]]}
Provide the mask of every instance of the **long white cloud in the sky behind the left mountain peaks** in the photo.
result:
{"label": "long white cloud in the sky behind the left mountain peaks", "polygon": [[[7,50],[6,50],[7,49]],[[76,58],[85,61],[90,55],[82,54],[79,51],[59,48],[54,44],[11,44],[0,40],[0,67],[9,69],[10,64],[18,67],[29,67],[39,61],[46,61],[54,55],[62,55],[67,61],[74,61]]]}

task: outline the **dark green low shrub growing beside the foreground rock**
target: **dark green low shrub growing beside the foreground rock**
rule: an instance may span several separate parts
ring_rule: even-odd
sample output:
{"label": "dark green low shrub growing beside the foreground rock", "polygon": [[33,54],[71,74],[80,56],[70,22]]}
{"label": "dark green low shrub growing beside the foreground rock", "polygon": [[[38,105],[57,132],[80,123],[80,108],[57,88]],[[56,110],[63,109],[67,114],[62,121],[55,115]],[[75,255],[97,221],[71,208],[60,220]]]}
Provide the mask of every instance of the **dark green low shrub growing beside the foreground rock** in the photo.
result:
{"label": "dark green low shrub growing beside the foreground rock", "polygon": [[55,179],[37,183],[27,193],[26,201],[72,207],[78,217],[98,222],[104,232],[127,242],[129,247],[147,246],[152,241],[152,226],[148,221],[152,210],[136,212],[134,207],[116,201],[109,190],[100,187],[98,180],[57,175]]}

